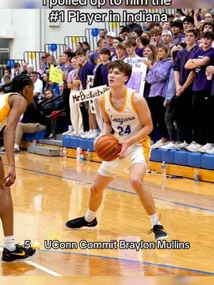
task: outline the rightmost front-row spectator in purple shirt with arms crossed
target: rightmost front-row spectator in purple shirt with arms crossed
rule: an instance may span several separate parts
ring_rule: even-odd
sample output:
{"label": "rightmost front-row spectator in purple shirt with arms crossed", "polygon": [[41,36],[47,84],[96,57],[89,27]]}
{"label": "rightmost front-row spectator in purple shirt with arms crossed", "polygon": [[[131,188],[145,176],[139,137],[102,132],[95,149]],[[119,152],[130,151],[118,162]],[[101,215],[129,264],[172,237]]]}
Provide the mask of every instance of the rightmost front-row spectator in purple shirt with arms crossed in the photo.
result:
{"label": "rightmost front-row spectator in purple shirt with arms crossed", "polygon": [[192,59],[185,64],[185,68],[194,69],[193,82],[193,142],[186,147],[189,151],[206,152],[213,148],[213,135],[210,134],[209,104],[211,81],[207,81],[205,70],[214,65],[214,48],[211,48],[214,33],[207,31],[202,34],[202,49],[195,51]]}

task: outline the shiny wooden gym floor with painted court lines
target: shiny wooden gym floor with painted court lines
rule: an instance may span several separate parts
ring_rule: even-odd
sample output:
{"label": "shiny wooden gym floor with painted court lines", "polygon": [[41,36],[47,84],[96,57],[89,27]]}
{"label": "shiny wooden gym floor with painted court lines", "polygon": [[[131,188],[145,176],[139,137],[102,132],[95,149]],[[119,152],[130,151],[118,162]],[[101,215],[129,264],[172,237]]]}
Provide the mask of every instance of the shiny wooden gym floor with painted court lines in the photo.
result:
{"label": "shiny wooden gym floor with painted court lines", "polygon": [[[1,156],[6,168],[6,157]],[[17,178],[11,188],[16,242],[28,239],[41,245],[28,261],[0,261],[1,276],[214,275],[214,184],[181,178],[167,178],[164,183],[159,174],[147,174],[145,183],[155,198],[168,241],[190,242],[190,249],[45,249],[45,239],[73,244],[82,239],[154,242],[153,234],[147,234],[149,219],[125,175],[104,192],[96,229],[64,227],[68,219],[86,212],[88,190],[99,165],[88,161],[77,165],[75,159],[27,152],[16,155]]]}

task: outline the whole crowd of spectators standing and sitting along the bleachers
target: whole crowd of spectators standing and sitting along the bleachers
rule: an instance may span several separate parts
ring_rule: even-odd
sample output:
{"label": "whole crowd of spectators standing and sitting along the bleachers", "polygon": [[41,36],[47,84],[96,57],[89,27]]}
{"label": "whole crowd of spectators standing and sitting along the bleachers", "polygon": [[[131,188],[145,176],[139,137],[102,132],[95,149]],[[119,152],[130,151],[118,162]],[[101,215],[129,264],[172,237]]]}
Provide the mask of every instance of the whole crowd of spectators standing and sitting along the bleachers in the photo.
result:
{"label": "whole crowd of spectators standing and sitting along the bleachers", "polygon": [[[88,102],[70,105],[71,90],[84,90],[88,84],[89,87],[108,86],[110,61],[146,57],[148,59],[143,61],[147,66],[146,84],[142,95],[153,120],[152,147],[214,154],[214,9],[190,9],[185,13],[177,9],[165,23],[120,26],[118,35],[101,29],[96,51],[91,51],[87,41],[79,42],[76,51],[68,48],[58,58],[44,53],[38,71],[28,63],[22,66],[15,63],[13,76],[26,73],[31,77],[34,82],[32,105],[40,114],[50,115],[54,108],[65,111],[68,130],[63,135],[93,139],[103,125],[96,100],[96,113],[91,111]],[[51,64],[61,68],[63,84],[49,80]],[[11,92],[11,79],[11,70],[6,67],[0,93]],[[41,112],[41,106],[57,95],[62,95],[61,100],[56,100],[57,104],[54,107],[52,104],[45,114]],[[29,118],[28,122],[25,118],[24,121],[34,124],[31,132],[46,129],[47,137],[55,138],[52,123],[32,120]],[[15,148],[19,151],[19,140]]]}

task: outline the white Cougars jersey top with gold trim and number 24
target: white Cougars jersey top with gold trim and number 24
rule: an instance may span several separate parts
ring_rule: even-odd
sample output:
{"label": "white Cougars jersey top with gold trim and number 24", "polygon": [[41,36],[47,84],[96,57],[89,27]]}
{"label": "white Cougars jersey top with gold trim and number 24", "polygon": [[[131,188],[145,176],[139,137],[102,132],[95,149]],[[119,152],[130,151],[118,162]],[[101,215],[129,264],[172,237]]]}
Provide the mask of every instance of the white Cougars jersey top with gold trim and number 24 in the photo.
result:
{"label": "white Cougars jersey top with gold trim and number 24", "polygon": [[115,136],[120,140],[124,137],[136,135],[142,128],[138,112],[133,103],[135,90],[126,88],[124,103],[120,110],[116,109],[111,103],[111,90],[103,94],[103,111],[111,120],[111,125],[115,131]]}

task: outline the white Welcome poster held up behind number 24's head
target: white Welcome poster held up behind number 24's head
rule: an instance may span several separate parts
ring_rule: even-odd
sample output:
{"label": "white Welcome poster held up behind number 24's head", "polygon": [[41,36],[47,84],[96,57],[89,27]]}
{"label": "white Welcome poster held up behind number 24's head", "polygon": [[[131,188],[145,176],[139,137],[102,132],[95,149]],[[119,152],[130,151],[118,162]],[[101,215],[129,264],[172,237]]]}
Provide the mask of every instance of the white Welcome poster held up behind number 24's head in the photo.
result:
{"label": "white Welcome poster held up behind number 24's head", "polygon": [[124,58],[124,62],[132,66],[131,78],[126,86],[133,90],[136,90],[143,96],[145,78],[146,78],[146,64],[143,60],[147,61],[147,58]]}

